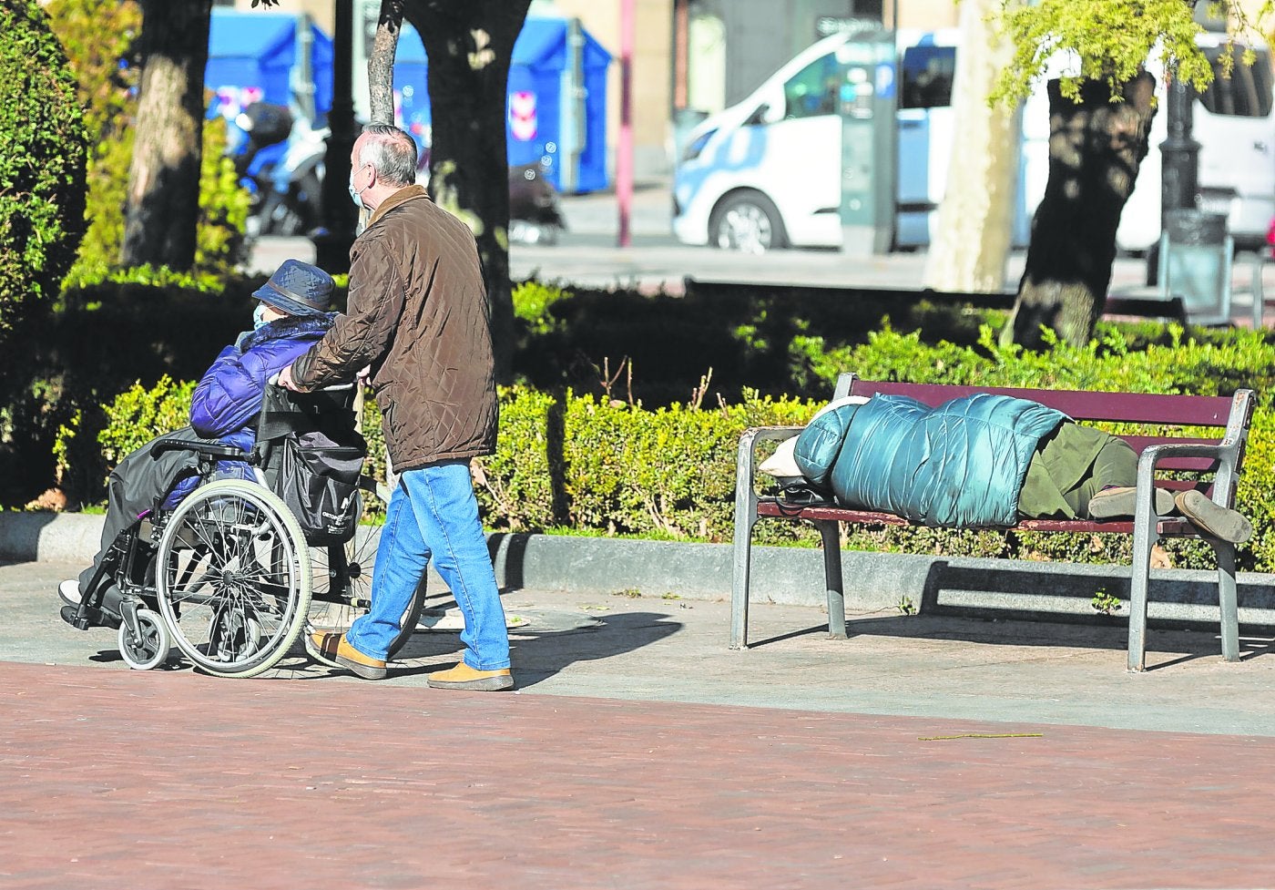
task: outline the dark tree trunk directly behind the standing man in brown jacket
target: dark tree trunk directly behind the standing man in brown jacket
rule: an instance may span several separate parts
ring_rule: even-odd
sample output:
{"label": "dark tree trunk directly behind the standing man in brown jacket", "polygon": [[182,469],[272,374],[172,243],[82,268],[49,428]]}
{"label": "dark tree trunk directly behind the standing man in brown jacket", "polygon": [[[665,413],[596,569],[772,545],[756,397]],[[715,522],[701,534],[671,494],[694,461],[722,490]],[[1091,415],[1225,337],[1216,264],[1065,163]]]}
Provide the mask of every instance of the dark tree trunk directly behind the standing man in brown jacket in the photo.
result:
{"label": "dark tree trunk directly behind the standing man in brown jacket", "polygon": [[514,41],[530,0],[408,0],[430,57],[430,194],[478,240],[496,380],[511,379],[509,150],[505,103]]}

